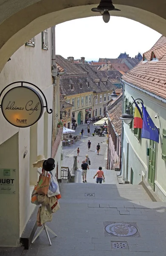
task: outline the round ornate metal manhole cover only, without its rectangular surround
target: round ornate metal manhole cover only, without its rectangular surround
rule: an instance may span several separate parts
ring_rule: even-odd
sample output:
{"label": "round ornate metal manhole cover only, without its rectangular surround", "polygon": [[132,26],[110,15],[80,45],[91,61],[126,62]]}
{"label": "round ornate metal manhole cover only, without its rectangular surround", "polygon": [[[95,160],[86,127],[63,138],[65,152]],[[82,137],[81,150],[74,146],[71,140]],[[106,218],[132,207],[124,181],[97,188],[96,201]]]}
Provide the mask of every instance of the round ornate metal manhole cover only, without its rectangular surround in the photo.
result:
{"label": "round ornate metal manhole cover only, without its rectangular surround", "polygon": [[113,236],[134,236],[138,232],[134,225],[124,222],[109,224],[105,227],[105,230]]}

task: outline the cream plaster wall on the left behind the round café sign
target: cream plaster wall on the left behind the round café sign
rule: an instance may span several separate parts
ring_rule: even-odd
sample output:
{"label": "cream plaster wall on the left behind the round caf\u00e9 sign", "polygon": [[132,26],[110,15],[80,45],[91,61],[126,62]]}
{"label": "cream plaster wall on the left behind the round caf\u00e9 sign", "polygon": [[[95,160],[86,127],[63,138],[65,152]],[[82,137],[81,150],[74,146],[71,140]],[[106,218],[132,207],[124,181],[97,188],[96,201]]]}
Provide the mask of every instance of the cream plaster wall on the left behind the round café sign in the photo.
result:
{"label": "cream plaster wall on the left behind the round caf\u00e9 sign", "polygon": [[[35,47],[23,45],[11,56],[11,61],[6,63],[0,73],[0,87],[4,88],[14,81],[31,82],[43,91],[50,109],[53,102],[50,29],[48,50],[42,49],[41,33],[35,39]],[[0,168],[17,171],[16,194],[0,194],[0,226],[3,229],[0,233],[0,246],[18,246],[19,238],[35,207],[31,204],[30,195],[38,175],[36,169],[32,168],[32,163],[36,161],[38,154],[45,153],[46,157],[51,157],[52,114],[43,113],[41,119],[32,127],[16,128],[4,119],[0,111],[0,124]],[[28,152],[23,158],[26,150]]]}

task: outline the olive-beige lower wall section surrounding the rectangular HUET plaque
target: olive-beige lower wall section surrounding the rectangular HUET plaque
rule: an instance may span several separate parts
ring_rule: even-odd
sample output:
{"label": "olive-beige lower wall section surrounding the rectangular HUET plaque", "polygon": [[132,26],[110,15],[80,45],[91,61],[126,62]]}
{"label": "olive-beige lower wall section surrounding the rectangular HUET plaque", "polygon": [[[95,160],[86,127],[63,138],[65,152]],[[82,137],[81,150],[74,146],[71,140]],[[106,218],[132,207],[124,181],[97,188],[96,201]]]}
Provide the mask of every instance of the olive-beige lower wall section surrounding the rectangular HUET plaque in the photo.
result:
{"label": "olive-beige lower wall section surrounding the rectangular HUET plaque", "polygon": [[19,135],[16,133],[0,144],[0,169],[16,170],[16,193],[0,193],[0,245],[3,246],[17,246],[20,237],[19,197],[22,197],[22,195],[19,192],[18,140]]}

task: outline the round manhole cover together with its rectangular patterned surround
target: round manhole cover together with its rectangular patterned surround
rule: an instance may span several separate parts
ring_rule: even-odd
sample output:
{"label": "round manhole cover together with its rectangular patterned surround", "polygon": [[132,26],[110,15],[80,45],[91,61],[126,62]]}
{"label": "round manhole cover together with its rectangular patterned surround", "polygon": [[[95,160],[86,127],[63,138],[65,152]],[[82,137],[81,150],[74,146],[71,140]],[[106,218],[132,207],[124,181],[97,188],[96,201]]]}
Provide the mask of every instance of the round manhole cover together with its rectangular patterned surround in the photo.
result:
{"label": "round manhole cover together with its rectangular patterned surround", "polygon": [[104,222],[105,236],[131,236],[140,237],[135,222]]}

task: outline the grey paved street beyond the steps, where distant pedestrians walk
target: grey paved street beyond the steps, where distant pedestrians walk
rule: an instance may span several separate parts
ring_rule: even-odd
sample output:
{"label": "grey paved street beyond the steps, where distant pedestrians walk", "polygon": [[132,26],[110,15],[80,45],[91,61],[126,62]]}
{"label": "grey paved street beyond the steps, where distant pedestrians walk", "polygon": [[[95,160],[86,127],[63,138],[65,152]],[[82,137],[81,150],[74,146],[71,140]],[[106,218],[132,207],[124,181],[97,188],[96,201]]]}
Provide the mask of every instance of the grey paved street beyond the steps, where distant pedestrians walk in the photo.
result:
{"label": "grey paved street beyond the steps, where distant pedestrians walk", "polygon": [[[63,147],[63,166],[68,166],[69,169],[72,169],[73,164],[73,156],[77,156],[77,148],[80,148],[80,154],[77,157],[78,160],[78,167],[80,168],[82,160],[85,160],[86,154],[89,155],[89,159],[91,160],[91,167],[92,169],[98,169],[99,166],[102,166],[103,169],[106,169],[106,159],[107,159],[107,136],[105,137],[99,137],[95,135],[92,136],[92,133],[94,131],[94,128],[96,126],[90,124],[90,131],[91,136],[88,137],[87,133],[87,124],[86,125],[79,125],[79,127],[76,128],[75,135],[80,135],[80,131],[83,128],[84,134],[83,137],[81,137],[80,141],[77,141],[76,144],[73,144],[72,147],[65,146]],[[74,134],[74,133],[73,133]],[[91,141],[91,149],[88,151],[87,143],[88,140]],[[97,155],[95,153],[97,144],[100,143],[100,154]]]}

